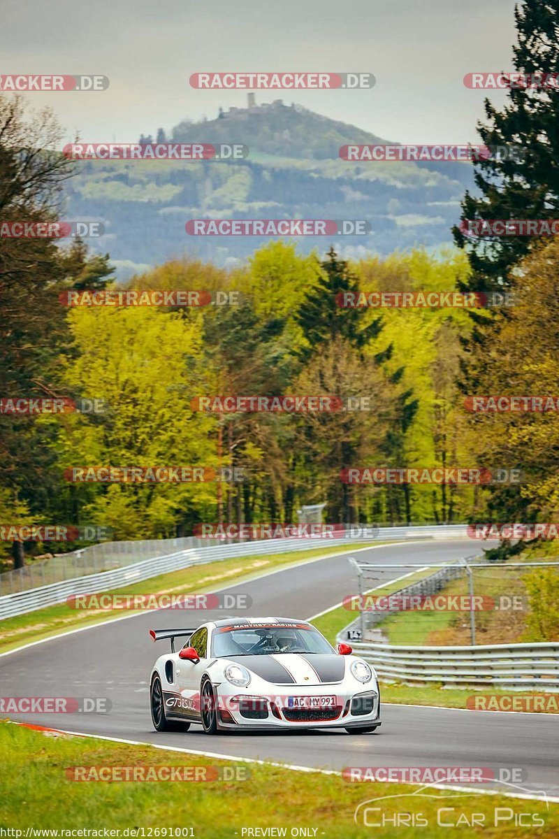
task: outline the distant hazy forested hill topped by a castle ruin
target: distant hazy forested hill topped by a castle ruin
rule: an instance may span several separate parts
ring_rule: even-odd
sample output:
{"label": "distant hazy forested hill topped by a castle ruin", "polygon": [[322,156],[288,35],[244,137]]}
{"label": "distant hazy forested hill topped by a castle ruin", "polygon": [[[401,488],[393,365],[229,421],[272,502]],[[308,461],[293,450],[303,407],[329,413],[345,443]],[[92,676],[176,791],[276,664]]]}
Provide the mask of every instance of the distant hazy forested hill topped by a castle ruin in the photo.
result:
{"label": "distant hazy forested hill topped by a castle ruin", "polygon": [[244,259],[261,237],[189,237],[191,218],[365,219],[366,237],[300,237],[307,252],[334,243],[342,253],[386,254],[451,242],[469,164],[351,163],[347,143],[387,143],[374,134],[281,100],[231,108],[214,120],[184,120],[168,140],[244,143],[247,159],[88,161],[68,182],[67,216],[104,221],[93,250],[111,253],[122,278],[184,253],[218,264]]}

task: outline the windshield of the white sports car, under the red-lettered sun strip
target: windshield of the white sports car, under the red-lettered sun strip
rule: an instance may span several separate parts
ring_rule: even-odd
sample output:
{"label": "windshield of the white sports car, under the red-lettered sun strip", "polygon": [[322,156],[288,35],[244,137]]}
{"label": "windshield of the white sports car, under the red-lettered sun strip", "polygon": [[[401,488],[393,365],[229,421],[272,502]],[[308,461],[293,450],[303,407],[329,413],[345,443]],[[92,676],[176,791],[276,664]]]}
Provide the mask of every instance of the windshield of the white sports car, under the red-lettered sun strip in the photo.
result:
{"label": "windshield of the white sports car, under the red-lettered sun strip", "polygon": [[246,624],[214,630],[212,655],[281,653],[333,654],[334,649],[316,629],[304,623]]}

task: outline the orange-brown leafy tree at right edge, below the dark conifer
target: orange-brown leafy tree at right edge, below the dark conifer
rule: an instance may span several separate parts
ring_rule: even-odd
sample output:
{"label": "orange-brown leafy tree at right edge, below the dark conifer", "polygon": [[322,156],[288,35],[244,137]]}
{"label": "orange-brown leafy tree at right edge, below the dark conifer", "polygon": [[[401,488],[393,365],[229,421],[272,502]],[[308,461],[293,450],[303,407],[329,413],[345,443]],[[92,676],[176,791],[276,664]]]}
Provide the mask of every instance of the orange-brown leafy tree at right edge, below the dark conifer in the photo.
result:
{"label": "orange-brown leafy tree at right edge, below the dark conifer", "polygon": [[[514,279],[515,305],[479,326],[479,341],[464,356],[468,393],[552,395],[559,378],[559,246],[538,248]],[[478,461],[520,469],[519,484],[495,487],[489,510],[495,521],[554,521],[559,512],[556,412],[471,414],[468,423]],[[503,518],[505,517],[505,518]]]}

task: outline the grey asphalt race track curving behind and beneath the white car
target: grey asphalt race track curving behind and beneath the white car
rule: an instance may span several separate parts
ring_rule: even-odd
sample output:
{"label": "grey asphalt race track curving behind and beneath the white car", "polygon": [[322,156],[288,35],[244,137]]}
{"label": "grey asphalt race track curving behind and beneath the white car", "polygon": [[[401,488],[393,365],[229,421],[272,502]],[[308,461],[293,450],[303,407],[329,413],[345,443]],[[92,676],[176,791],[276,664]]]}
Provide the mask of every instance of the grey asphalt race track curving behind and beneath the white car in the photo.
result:
{"label": "grey asphalt race track curving behind and beneath the white car", "polygon": [[[474,553],[473,543],[425,541],[384,545],[361,551],[360,559],[379,562],[447,561]],[[379,573],[379,582],[406,573]],[[378,583],[374,583],[378,585]],[[240,615],[310,618],[355,593],[355,572],[348,555],[310,561],[221,591],[249,594],[253,605]],[[266,732],[204,735],[153,731],[148,677],[157,648],[149,628],[203,623],[222,612],[141,612],[78,633],[6,654],[0,659],[3,696],[106,696],[109,714],[21,714],[14,719],[65,731],[122,737],[142,743],[208,751],[240,758],[261,758],[323,769],[347,766],[522,767],[527,790],[559,795],[559,717],[443,708],[385,705],[374,734]],[[194,620],[193,620],[194,618]],[[487,691],[489,692],[489,691]],[[509,788],[512,789],[512,788]]]}

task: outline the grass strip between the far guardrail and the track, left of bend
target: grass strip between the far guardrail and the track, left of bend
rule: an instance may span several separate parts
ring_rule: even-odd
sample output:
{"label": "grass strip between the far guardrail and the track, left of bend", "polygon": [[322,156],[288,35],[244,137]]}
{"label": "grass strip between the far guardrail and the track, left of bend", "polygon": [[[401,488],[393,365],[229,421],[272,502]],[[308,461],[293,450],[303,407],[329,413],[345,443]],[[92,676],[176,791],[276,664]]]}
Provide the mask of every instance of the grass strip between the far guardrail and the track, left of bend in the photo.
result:
{"label": "grass strip between the far guardrail and the track, left of bend", "polygon": [[[317,548],[316,550],[296,550],[292,553],[236,557],[230,560],[210,562],[207,565],[193,565],[182,571],[152,577],[150,580],[135,583],[121,589],[111,589],[108,593],[150,594],[150,593],[204,593],[230,583],[248,581],[266,571],[274,571],[287,565],[296,565],[318,556],[339,553],[351,553],[360,548],[386,543],[360,543],[351,547]],[[107,592],[105,592],[107,593]],[[0,623],[2,638],[0,652],[17,648],[50,635],[65,632],[82,626],[104,623],[114,618],[122,618],[122,610],[99,612],[98,610],[70,609],[65,603],[28,612],[16,618],[6,618]]]}

